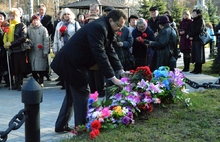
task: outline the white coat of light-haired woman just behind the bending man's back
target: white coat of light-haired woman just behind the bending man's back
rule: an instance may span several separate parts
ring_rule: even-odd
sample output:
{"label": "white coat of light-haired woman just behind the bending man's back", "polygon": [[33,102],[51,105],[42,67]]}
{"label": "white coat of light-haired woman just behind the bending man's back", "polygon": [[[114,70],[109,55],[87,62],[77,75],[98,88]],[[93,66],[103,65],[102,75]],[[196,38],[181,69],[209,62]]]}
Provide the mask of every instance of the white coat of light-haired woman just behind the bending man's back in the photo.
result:
{"label": "white coat of light-haired woman just behind the bending man's back", "polygon": [[[60,21],[56,26],[54,43],[53,43],[53,52],[58,52],[64,46],[64,40],[63,37],[61,37],[61,33],[60,33],[60,28],[63,25],[64,22]],[[70,22],[67,26],[68,39],[70,39],[79,29],[80,29],[80,25],[77,21]]]}

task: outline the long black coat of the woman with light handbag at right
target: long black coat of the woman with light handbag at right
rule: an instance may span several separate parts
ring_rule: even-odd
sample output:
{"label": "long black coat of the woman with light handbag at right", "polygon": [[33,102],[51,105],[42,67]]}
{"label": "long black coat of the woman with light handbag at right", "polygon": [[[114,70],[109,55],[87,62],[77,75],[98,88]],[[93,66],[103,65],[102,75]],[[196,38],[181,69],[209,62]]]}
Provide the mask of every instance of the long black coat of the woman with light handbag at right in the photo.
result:
{"label": "long black coat of the woman with light handbag at right", "polygon": [[199,34],[204,30],[205,24],[201,16],[193,19],[188,32],[189,37],[192,37],[192,62],[205,63],[205,49],[201,44]]}

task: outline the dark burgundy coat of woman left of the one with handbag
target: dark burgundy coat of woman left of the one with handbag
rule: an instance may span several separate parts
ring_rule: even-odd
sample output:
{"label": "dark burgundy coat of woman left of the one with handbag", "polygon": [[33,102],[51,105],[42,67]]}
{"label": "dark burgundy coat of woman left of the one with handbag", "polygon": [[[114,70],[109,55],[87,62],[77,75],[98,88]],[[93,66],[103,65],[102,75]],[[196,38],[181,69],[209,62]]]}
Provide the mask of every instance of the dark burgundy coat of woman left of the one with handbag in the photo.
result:
{"label": "dark burgundy coat of woman left of the one with handbag", "polygon": [[185,31],[185,34],[179,34],[180,35],[180,51],[191,51],[191,41],[186,38],[186,35],[188,34],[190,24],[192,23],[191,19],[183,19],[180,22],[180,26],[178,31],[180,32],[181,30]]}

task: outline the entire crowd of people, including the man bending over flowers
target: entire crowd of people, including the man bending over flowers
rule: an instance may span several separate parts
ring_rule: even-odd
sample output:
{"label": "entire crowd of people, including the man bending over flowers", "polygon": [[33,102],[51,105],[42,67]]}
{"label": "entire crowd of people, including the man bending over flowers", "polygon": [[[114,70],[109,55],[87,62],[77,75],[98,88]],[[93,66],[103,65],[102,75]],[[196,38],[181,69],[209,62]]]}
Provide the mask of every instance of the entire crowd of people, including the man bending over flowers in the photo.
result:
{"label": "entire crowd of people, including the man bending over flowers", "polygon": [[[64,8],[54,22],[44,4],[30,20],[22,16],[21,8],[12,8],[8,18],[0,11],[0,80],[5,81],[5,87],[11,83],[10,89],[21,91],[23,78],[31,73],[44,87],[44,76],[51,81],[52,68],[59,76],[56,81],[66,90],[55,125],[56,132],[63,132],[70,131],[68,121],[73,112],[75,126],[85,124],[89,94],[98,91],[99,97],[108,98],[105,87],[121,87],[125,71],[146,65],[152,72],[160,66],[173,70],[170,59],[178,59],[178,44],[183,53],[182,71],[188,72],[194,63],[191,73],[200,74],[205,54],[199,34],[206,26],[214,34],[212,24],[205,25],[202,11],[194,9],[192,17],[184,11],[179,27],[169,11],[160,14],[157,7],[149,11],[149,19],[127,17],[114,7],[106,7],[100,15],[99,5],[91,4],[88,15],[75,15]],[[23,50],[27,39],[33,46]],[[212,50],[213,42],[215,38],[210,42]],[[52,63],[50,49],[55,55]],[[131,57],[135,64],[131,64]]]}

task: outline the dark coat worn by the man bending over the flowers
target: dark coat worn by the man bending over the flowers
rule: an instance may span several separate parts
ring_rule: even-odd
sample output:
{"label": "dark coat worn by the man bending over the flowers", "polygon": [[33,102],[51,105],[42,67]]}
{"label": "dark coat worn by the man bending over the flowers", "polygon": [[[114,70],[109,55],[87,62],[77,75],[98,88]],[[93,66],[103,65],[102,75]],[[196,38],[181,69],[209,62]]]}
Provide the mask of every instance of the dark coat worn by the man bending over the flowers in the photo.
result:
{"label": "dark coat worn by the man bending over the flowers", "polygon": [[87,70],[97,63],[106,78],[123,69],[112,46],[113,30],[106,17],[86,24],[55,56],[51,68],[73,87],[88,84]]}

